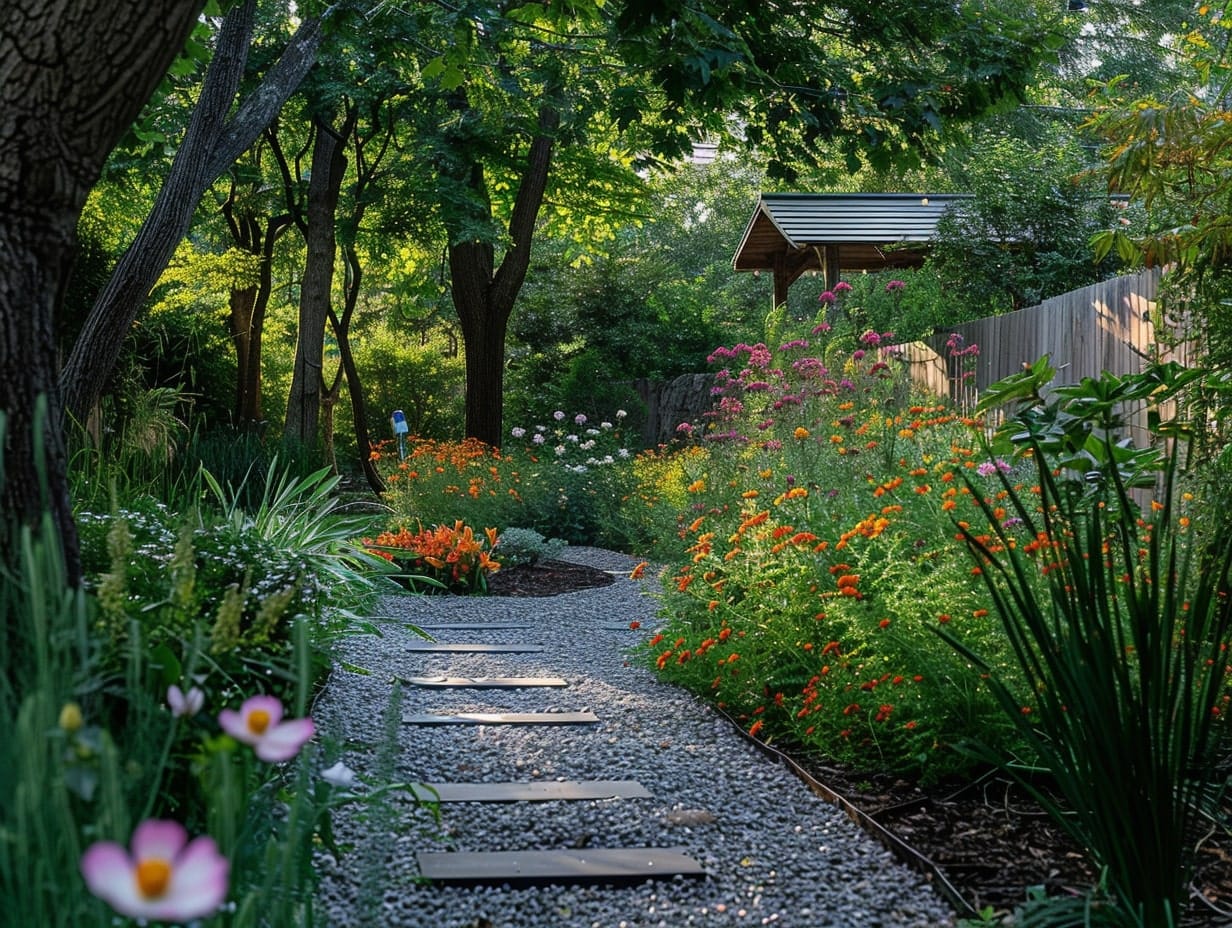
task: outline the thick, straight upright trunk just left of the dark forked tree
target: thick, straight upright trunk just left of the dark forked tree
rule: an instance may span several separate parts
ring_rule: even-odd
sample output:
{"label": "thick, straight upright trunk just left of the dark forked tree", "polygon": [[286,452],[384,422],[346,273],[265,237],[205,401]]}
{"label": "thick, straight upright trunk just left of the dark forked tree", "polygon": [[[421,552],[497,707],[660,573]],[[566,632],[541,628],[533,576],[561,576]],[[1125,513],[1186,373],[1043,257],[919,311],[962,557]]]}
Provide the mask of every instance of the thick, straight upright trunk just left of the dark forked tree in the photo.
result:
{"label": "thick, straight upright trunk just left of the dark forked tree", "polygon": [[354,111],[341,133],[317,120],[317,138],[308,181],[308,228],[304,230],[307,255],[299,287],[299,328],[296,339],[296,364],[287,397],[283,441],[309,446],[317,441],[320,425],[320,393],[324,385],[325,324],[334,290],[334,260],[338,243],[334,223],[338,196],[346,171],[346,149],[340,139],[354,128]]}

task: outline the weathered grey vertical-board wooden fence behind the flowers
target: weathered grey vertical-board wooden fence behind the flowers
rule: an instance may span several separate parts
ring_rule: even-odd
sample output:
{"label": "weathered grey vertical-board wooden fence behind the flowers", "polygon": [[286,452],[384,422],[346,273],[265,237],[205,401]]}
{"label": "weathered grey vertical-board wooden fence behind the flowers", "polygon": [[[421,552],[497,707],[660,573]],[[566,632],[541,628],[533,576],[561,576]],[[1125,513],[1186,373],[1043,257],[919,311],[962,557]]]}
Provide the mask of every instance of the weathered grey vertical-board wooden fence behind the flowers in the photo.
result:
{"label": "weathered grey vertical-board wooden fence behind the flowers", "polygon": [[[1056,368],[1057,386],[1099,377],[1104,371],[1136,373],[1151,357],[1185,364],[1184,346],[1165,351],[1157,341],[1152,319],[1158,287],[1158,271],[1115,277],[898,348],[917,386],[949,396],[965,410],[975,407],[988,385],[1044,355]],[[978,346],[978,354],[957,354],[971,345]],[[1141,444],[1146,412],[1129,410],[1127,415],[1131,435]]]}

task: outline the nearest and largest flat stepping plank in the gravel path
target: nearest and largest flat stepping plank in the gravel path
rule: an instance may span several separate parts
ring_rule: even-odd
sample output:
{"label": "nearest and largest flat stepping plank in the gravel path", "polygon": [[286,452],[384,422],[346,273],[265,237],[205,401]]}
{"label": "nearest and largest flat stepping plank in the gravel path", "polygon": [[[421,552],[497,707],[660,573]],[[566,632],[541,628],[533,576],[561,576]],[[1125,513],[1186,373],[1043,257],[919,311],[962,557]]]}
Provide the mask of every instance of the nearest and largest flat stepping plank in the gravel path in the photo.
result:
{"label": "nearest and largest flat stepping plank in the gravel path", "polygon": [[684,848],[580,850],[419,852],[419,873],[441,884],[639,882],[675,875],[705,876]]}

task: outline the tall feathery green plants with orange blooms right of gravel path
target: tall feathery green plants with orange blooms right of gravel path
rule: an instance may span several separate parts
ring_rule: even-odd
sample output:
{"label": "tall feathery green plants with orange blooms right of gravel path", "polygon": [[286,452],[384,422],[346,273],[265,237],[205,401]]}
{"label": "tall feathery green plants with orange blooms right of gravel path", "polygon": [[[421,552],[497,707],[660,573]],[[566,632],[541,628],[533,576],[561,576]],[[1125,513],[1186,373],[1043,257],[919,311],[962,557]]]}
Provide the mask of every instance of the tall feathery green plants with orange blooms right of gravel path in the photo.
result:
{"label": "tall feathery green plants with orange blooms right of gravel path", "polygon": [[663,626],[643,659],[759,737],[935,779],[971,765],[963,738],[1013,738],[935,633],[997,653],[951,518],[983,524],[998,465],[975,450],[975,423],[910,397],[882,335],[846,351],[828,335],[717,350],[701,446],[638,462],[654,481],[639,503],[678,519],[674,551],[659,520]]}

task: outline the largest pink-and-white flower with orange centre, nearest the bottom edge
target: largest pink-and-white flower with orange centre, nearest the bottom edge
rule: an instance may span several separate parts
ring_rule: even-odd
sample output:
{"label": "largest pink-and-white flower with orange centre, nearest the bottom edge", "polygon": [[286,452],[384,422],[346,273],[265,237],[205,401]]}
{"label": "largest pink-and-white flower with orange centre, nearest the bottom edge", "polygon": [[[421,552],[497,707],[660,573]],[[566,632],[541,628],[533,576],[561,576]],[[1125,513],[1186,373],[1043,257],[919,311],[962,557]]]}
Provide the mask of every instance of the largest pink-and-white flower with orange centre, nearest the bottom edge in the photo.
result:
{"label": "largest pink-and-white flower with orange centre, nearest the bottom edge", "polygon": [[212,914],[227,898],[229,870],[213,838],[190,843],[182,824],[153,818],[137,826],[131,855],[112,840],[81,855],[90,892],[123,916],[163,922]]}

